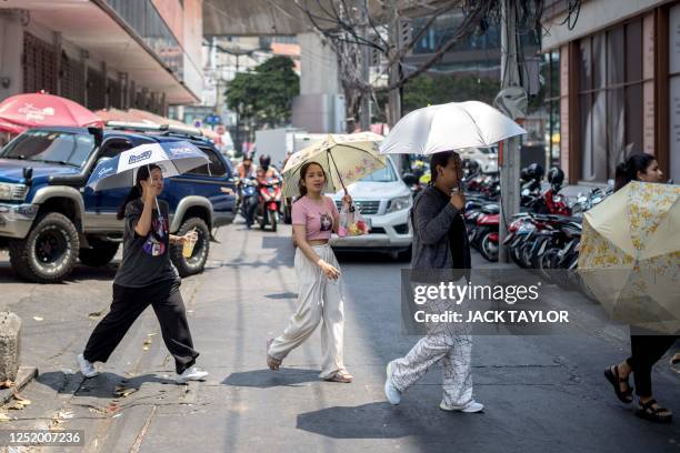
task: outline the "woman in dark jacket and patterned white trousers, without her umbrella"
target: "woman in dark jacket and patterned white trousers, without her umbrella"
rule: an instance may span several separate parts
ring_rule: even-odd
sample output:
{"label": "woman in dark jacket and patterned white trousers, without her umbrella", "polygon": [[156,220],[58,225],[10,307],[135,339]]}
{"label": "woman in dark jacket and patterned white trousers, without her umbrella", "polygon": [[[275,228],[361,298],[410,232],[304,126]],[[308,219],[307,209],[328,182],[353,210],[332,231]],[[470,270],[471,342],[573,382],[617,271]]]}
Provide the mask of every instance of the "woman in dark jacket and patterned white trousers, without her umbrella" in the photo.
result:
{"label": "woman in dark jacket and patterned white trousers, without her umbrella", "polygon": [[[466,200],[452,190],[462,177],[461,161],[452,151],[436,153],[430,163],[432,185],[416,200],[412,211],[413,256],[411,268],[432,274],[457,270],[467,274],[470,269],[470,245],[461,212]],[[439,271],[439,272],[438,272]],[[458,279],[457,279],[458,280]],[[460,280],[464,284],[464,280]],[[443,313],[448,301],[429,302],[432,313]],[[471,353],[472,336],[466,325],[438,323],[427,326],[409,353],[388,364],[384,393],[388,401],[399,404],[401,393],[416,383],[434,363],[443,371],[443,397],[439,405],[444,411],[479,412],[483,405],[472,399]]]}

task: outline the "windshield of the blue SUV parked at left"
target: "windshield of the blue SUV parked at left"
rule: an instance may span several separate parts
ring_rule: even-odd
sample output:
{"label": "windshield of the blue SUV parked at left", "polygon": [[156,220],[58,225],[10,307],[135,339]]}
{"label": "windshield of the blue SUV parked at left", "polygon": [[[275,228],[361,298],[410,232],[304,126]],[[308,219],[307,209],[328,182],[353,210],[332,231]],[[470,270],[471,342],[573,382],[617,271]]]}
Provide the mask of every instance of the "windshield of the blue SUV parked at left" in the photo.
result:
{"label": "windshield of the blue SUV parked at left", "polygon": [[93,148],[90,134],[36,129],[9,142],[0,158],[81,167]]}

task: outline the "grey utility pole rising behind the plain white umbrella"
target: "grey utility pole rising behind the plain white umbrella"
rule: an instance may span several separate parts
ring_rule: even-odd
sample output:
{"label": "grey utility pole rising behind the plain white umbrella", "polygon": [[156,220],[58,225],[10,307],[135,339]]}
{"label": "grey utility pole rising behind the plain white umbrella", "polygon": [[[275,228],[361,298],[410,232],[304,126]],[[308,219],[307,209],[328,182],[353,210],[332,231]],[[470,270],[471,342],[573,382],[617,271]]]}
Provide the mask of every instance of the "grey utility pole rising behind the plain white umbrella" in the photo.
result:
{"label": "grey utility pole rising behind the plain white umbrella", "polygon": [[[517,10],[514,0],[502,0],[501,4],[501,94],[511,87],[520,87],[520,73],[518,61],[518,36],[517,36]],[[500,97],[500,95],[499,95]],[[513,120],[519,117],[517,107],[508,109],[504,103],[497,107]],[[523,112],[521,112],[523,114]],[[503,246],[503,241],[508,234],[507,222],[511,221],[512,215],[519,212],[519,174],[520,174],[520,139],[513,137],[501,143],[502,161],[500,163],[500,228],[499,228],[499,255],[500,263],[508,262],[508,254]],[[499,159],[501,155],[499,155]]]}

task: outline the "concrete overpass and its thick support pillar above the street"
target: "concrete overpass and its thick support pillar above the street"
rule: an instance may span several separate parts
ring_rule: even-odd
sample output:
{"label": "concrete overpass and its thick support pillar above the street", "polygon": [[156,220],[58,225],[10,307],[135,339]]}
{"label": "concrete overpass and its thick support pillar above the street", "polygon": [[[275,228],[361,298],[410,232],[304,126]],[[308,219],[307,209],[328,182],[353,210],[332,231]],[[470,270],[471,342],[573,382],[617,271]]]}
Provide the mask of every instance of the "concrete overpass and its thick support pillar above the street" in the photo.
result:
{"label": "concrete overpass and its thick support pillar above the street", "polygon": [[[450,0],[398,0],[397,11],[400,17],[412,18],[430,14],[443,3]],[[204,0],[203,36],[297,36],[301,80],[300,95],[293,102],[293,125],[309,132],[344,132],[338,58],[308,17],[309,11],[328,19],[339,4],[337,0]],[[376,23],[387,23],[388,9],[389,2],[368,0],[368,12]],[[317,22],[329,29],[336,26],[323,19]]]}

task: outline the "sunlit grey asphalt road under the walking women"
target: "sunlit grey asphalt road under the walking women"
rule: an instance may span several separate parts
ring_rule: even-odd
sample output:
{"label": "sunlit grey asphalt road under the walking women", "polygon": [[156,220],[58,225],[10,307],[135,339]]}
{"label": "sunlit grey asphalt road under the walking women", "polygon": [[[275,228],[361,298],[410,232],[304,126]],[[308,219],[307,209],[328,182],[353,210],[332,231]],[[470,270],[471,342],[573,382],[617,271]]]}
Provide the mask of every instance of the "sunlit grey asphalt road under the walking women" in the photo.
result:
{"label": "sunlit grey asphalt road under the walking women", "polygon": [[[340,255],[352,384],[318,380],[318,332],[280,372],[268,370],[266,340],[281,332],[296,302],[289,238],[289,228],[224,228],[206,272],[183,281],[199,365],[211,373],[190,385],[172,382],[151,310],[102,374],[76,372],[76,354],[110,304],[116,264],[36,285],[18,281],[0,255],[0,310],[22,318],[22,364],[40,370],[22,392],[32,404],[10,410],[16,420],[0,429],[84,430],[82,447],[30,449],[44,452],[680,452],[680,420],[651,424],[614,399],[602,371],[626,356],[627,333],[589,329],[588,312],[580,334],[477,336],[474,395],[484,413],[440,411],[438,368],[391,406],[384,366],[417,338],[400,328],[404,263],[387,256]],[[483,265],[479,255],[473,261]],[[680,414],[680,376],[667,363],[659,362],[654,391]]]}

